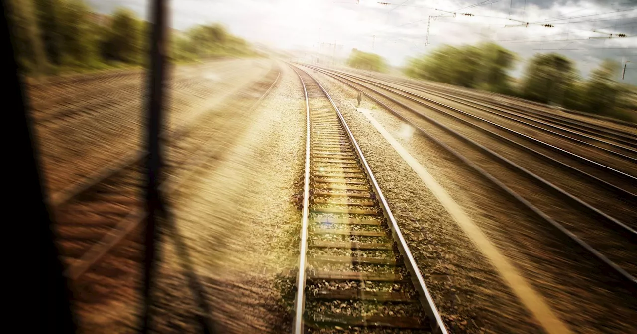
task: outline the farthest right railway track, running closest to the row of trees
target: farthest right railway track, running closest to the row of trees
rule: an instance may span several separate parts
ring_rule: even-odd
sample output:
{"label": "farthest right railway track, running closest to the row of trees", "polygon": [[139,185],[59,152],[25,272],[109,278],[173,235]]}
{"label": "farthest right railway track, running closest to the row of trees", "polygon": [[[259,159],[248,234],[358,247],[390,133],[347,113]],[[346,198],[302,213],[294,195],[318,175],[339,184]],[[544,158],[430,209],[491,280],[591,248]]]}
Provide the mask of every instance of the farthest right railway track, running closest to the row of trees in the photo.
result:
{"label": "farthest right railway track, running closest to the row of trees", "polygon": [[[341,72],[344,73],[344,72]],[[594,123],[585,122],[584,120],[576,120],[574,118],[563,117],[559,115],[552,115],[555,109],[551,109],[550,106],[545,104],[541,104],[538,102],[527,101],[523,99],[519,99],[517,97],[510,96],[500,96],[497,94],[487,93],[489,96],[485,96],[483,94],[474,94],[472,92],[466,92],[459,88],[440,88],[434,87],[433,85],[416,85],[413,81],[410,80],[400,80],[400,79],[383,79],[383,81],[396,83],[398,85],[403,85],[404,87],[415,88],[421,90],[422,92],[433,92],[434,94],[442,94],[447,96],[452,96],[455,98],[469,99],[473,101],[480,101],[490,106],[497,106],[499,108],[510,109],[512,111],[517,111],[521,115],[525,115],[527,118],[536,118],[541,120],[542,123],[552,123],[553,125],[558,125],[560,127],[565,127],[570,130],[575,130],[579,132],[583,132],[584,134],[589,134],[592,136],[598,136],[608,140],[617,140],[619,143],[627,144],[628,146],[632,146],[633,148],[636,146],[637,135],[634,131],[626,129],[637,127],[634,123],[624,122],[620,120],[615,120],[614,118],[607,118],[604,116],[592,115],[587,113],[581,113],[578,111],[572,111],[568,109],[560,109],[565,113],[569,113],[572,115],[578,115],[587,118],[596,118],[598,120],[604,120],[606,122],[615,123],[620,126],[621,129],[615,128],[606,128],[596,125]],[[449,91],[454,92],[453,94],[449,94]],[[505,101],[499,101],[498,98],[505,99]],[[510,102],[509,102],[510,101]]]}

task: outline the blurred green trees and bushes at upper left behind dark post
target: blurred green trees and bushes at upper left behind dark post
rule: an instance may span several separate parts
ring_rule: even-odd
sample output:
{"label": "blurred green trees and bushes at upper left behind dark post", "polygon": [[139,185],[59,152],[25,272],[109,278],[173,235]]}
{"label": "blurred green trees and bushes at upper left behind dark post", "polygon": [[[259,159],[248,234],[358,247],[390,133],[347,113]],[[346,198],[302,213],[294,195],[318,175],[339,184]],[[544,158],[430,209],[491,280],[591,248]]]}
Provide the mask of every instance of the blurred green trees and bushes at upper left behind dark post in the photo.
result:
{"label": "blurred green trees and bushes at upper left behind dark post", "polygon": [[[133,11],[92,11],[83,0],[8,0],[8,19],[20,66],[29,75],[140,66],[147,59],[150,24]],[[224,27],[169,29],[169,57],[189,62],[204,57],[255,55]]]}

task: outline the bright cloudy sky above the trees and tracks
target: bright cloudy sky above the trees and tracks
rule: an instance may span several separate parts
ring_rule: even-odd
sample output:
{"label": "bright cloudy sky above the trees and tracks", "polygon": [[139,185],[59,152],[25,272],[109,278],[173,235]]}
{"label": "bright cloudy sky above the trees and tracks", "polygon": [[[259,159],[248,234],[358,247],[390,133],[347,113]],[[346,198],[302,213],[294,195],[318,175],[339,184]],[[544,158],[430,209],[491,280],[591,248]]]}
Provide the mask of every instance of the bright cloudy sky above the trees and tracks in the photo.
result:
{"label": "bright cloudy sky above the trees and tracks", "polygon": [[[103,13],[124,6],[142,17],[147,14],[147,0],[91,2]],[[577,61],[582,75],[604,58],[629,60],[626,81],[637,85],[637,0],[171,0],[169,4],[175,29],[221,22],[249,41],[277,48],[317,50],[321,43],[336,43],[336,53],[343,57],[359,48],[400,66],[407,57],[443,43],[491,40],[518,53],[520,64],[534,53],[563,53]],[[434,18],[426,46],[430,16]],[[620,33],[626,37],[615,37]]]}

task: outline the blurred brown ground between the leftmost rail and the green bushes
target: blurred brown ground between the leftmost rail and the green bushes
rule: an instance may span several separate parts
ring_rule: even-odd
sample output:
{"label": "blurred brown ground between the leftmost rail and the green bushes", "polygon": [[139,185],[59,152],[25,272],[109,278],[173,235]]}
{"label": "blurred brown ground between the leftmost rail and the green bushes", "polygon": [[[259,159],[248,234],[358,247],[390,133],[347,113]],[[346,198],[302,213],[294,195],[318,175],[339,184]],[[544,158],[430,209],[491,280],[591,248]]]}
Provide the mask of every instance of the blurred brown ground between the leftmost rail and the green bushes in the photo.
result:
{"label": "blurred brown ground between the leftmost rail and the green bushes", "polygon": [[[167,90],[167,127],[176,129],[192,121],[201,111],[261,78],[269,67],[269,60],[262,59],[222,62],[220,66],[198,67],[199,71],[176,66]],[[87,85],[92,90],[85,93],[91,94],[77,97],[73,93],[82,92],[82,85],[66,88],[69,96],[64,101],[68,105],[64,105],[66,109],[59,107],[55,113],[72,116],[38,122],[41,110],[32,111],[47,188],[54,198],[70,184],[82,183],[110,162],[141,148],[144,92],[140,78],[115,80],[108,84],[114,90],[104,85]],[[55,95],[49,99],[55,99]],[[46,106],[34,104],[38,105]]]}

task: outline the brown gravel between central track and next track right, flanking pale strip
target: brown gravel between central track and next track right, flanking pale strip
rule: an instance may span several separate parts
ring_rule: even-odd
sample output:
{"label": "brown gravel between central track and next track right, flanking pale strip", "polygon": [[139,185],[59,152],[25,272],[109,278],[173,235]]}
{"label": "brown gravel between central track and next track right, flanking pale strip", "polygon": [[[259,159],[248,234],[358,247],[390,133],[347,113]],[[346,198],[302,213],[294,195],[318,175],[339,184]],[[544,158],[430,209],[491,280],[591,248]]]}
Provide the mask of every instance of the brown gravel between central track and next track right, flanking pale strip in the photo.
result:
{"label": "brown gravel between central track and next track right, flanking pale strip", "polygon": [[[342,108],[361,143],[421,270],[432,272],[438,264],[443,268],[439,272],[452,274],[448,276],[452,282],[444,282],[446,286],[433,277],[426,277],[441,312],[451,323],[450,327],[473,319],[480,330],[499,333],[539,331],[489,263],[431,197],[429,190],[421,185],[422,182],[376,133],[368,120],[355,111],[356,95],[353,90],[343,88],[340,82],[322,74],[318,78],[326,83],[326,88]],[[375,106],[364,102],[362,108],[375,109]],[[548,298],[550,305],[569,326],[580,332],[612,333],[634,328],[632,320],[629,320],[629,314],[635,310],[634,303],[630,299],[622,299],[621,290],[609,287],[603,282],[603,277],[590,275],[592,272],[599,273],[596,263],[589,261],[585,255],[571,254],[578,249],[553,237],[555,232],[538,225],[538,221],[529,217],[518,204],[499,195],[498,190],[476,177],[461,162],[423,137],[414,135],[413,129],[401,125],[389,113],[376,110],[373,115],[464,207],[500,251]],[[438,260],[441,262],[436,263]],[[433,263],[433,267],[429,267],[429,263]],[[443,276],[442,279],[448,277]],[[456,305],[449,303],[452,298],[448,293],[452,288],[461,296]],[[456,306],[459,311],[455,311]],[[621,315],[614,315],[617,313]],[[461,321],[452,320],[451,316],[459,317]]]}

